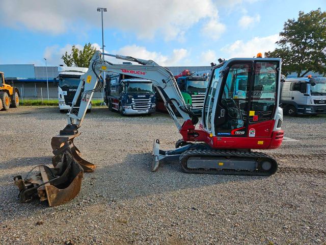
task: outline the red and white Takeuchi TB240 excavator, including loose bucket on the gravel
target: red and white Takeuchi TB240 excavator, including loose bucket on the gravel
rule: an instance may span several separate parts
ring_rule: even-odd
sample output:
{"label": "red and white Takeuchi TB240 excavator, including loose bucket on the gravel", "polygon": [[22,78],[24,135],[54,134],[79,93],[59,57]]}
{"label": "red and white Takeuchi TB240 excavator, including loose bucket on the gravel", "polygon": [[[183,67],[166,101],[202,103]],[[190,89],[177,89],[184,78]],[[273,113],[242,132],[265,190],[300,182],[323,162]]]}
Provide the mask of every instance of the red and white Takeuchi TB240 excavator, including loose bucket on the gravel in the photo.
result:
{"label": "red and white Takeuchi TB240 excavator, including loose bucket on the gravel", "polygon": [[[103,59],[105,55],[139,65],[113,64]],[[233,58],[220,59],[219,62],[212,66],[202,121],[196,127],[199,119],[185,104],[169,69],[152,60],[97,51],[88,71],[80,77],[72,102],[71,108],[81,91],[84,91],[79,110],[69,111],[67,126],[52,138],[55,154],[52,163],[55,168],[40,166],[42,169],[38,177],[41,178],[37,181],[36,177],[24,180],[21,176],[15,177],[21,202],[31,199],[35,194],[41,200],[47,199],[50,206],[67,202],[79,192],[82,177],[80,167],[84,171],[95,169],[94,164],[80,157],[73,139],[80,134],[78,129],[93,93],[104,87],[105,82],[101,77],[103,72],[149,79],[166,103],[182,139],[170,151],[160,150],[159,140],[154,141],[152,171],[156,171],[162,161],[179,160],[186,173],[273,175],[277,171],[277,161],[252,149],[276,149],[283,140],[283,113],[279,107],[281,59]],[[183,121],[180,122],[176,117],[175,110]]]}

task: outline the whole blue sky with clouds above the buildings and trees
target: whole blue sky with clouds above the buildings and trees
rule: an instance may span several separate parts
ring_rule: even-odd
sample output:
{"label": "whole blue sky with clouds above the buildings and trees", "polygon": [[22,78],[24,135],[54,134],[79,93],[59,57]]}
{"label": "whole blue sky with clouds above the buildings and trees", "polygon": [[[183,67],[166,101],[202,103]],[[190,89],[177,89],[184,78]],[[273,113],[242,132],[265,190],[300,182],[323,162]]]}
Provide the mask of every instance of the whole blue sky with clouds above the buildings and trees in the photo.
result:
{"label": "whole blue sky with clouds above the buildings and trees", "polygon": [[[0,0],[0,64],[64,64],[72,45],[199,66],[273,51],[287,19],[326,0]],[[110,60],[121,63],[121,60]]]}

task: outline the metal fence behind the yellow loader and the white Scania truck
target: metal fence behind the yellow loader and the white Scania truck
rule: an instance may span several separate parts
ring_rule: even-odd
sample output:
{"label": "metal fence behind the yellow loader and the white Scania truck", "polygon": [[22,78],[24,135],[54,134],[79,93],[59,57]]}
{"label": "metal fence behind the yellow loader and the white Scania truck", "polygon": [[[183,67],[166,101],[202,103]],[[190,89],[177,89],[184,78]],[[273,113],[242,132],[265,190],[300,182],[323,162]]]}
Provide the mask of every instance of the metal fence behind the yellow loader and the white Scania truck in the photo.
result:
{"label": "metal fence behind the yellow loader and the white Scania truck", "polygon": [[[18,88],[20,97],[23,100],[47,100],[47,87],[43,84],[35,83],[32,87],[31,84],[15,84],[15,87]],[[49,86],[49,99],[58,100],[58,87]],[[102,93],[95,92],[93,94],[93,100],[101,100]]]}

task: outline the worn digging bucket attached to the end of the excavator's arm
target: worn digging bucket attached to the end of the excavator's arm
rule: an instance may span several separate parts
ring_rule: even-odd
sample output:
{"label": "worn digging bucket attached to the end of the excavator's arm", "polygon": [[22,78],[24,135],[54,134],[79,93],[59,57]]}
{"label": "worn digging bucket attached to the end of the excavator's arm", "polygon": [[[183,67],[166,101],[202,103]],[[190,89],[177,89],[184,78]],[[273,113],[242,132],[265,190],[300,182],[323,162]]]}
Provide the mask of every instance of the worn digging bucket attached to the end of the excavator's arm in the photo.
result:
{"label": "worn digging bucket attached to the end of the excavator's arm", "polygon": [[69,152],[73,156],[74,160],[79,163],[80,166],[83,167],[84,172],[94,171],[96,166],[93,163],[90,163],[80,157],[80,151],[73,143],[74,138],[79,134],[80,133],[74,135],[57,135],[52,137],[51,146],[53,149],[53,154],[55,155],[54,157],[52,157],[53,166],[57,166],[62,155],[65,152]]}

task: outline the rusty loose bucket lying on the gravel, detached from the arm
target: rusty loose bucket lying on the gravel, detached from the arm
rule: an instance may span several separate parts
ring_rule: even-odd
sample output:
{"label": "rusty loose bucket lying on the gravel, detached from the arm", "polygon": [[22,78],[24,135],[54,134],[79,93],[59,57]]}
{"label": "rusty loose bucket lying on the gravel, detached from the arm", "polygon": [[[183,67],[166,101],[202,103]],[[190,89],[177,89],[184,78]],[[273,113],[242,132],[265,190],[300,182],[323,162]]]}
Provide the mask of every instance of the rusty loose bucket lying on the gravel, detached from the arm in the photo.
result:
{"label": "rusty loose bucket lying on the gravel, detached from the arm", "polygon": [[50,207],[67,203],[74,199],[80,191],[83,179],[83,168],[65,152],[57,166],[49,168],[39,165],[39,173],[28,179],[15,176],[14,181],[19,189],[21,203],[28,202],[33,197],[40,201],[47,200]]}

